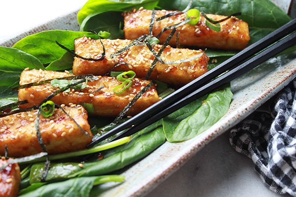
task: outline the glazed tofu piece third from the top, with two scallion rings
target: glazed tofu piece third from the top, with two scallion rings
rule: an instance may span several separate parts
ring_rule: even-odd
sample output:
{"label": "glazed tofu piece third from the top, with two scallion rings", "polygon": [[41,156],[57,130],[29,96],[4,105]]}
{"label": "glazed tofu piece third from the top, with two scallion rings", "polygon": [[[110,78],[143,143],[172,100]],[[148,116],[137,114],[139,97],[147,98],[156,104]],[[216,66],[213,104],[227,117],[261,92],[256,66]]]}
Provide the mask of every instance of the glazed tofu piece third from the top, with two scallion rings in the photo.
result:
{"label": "glazed tofu piece third from the top, with two scallion rings", "polygon": [[[20,78],[20,85],[37,82],[45,79],[53,79],[64,76],[72,76],[65,72],[45,71],[45,70],[27,70],[23,71]],[[132,85],[121,94],[114,94],[113,89],[122,82],[117,81],[115,77],[99,76],[99,79],[93,82],[88,82],[87,87],[83,90],[72,89],[69,93],[61,93],[55,96],[52,101],[57,104],[66,104],[69,106],[81,103],[92,103],[94,114],[98,116],[117,116],[122,109],[141,91],[150,81],[132,79]],[[96,93],[90,94],[100,87],[104,88]],[[19,100],[28,100],[29,103],[21,107],[30,107],[39,104],[43,99],[49,96],[52,92],[58,90],[58,87],[52,87],[50,84],[32,86],[19,90]],[[150,105],[159,101],[156,87],[151,87],[128,111],[127,115],[135,115],[146,109]]]}

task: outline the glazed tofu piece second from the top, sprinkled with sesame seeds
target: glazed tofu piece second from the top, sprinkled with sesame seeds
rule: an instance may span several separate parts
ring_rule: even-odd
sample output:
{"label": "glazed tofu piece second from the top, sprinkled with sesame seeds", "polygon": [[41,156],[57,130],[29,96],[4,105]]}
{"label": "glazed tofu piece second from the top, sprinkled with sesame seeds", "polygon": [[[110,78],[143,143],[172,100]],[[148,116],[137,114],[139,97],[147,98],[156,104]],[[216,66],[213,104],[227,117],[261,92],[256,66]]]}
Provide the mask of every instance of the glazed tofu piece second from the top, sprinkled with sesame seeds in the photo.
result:
{"label": "glazed tofu piece second from the top, sprinkled with sesame seeds", "polygon": [[[111,58],[111,54],[124,48],[131,40],[110,40],[102,39],[106,48],[106,56],[102,61],[86,61],[74,58],[73,73],[78,74],[95,74],[102,75],[112,69],[113,66],[120,62],[128,64],[117,66],[114,71],[133,70],[138,77],[144,78],[150,68],[155,57],[149,51],[146,45],[137,45],[123,52],[115,58]],[[100,40],[88,39],[87,37],[77,38],[74,42],[76,54],[82,57],[97,59],[103,52]],[[153,49],[158,52],[162,45],[155,44]],[[161,58],[164,62],[172,62],[178,60],[189,59],[202,54],[202,50],[190,50],[181,48],[172,48],[167,46]],[[209,58],[202,54],[201,57],[189,62],[180,64],[161,64],[157,63],[154,67],[150,79],[159,80],[175,86],[183,86],[188,82],[199,77],[207,71]]]}

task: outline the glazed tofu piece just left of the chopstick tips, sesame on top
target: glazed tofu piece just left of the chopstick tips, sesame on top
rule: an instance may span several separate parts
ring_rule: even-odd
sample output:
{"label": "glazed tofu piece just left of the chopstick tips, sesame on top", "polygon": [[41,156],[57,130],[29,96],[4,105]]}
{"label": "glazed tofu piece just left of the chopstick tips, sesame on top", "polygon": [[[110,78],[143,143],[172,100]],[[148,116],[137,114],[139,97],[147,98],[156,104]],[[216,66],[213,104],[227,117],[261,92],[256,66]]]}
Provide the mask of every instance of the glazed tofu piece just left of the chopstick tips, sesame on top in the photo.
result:
{"label": "glazed tofu piece just left of the chopstick tips, sesame on top", "polygon": [[[85,109],[81,106],[65,106],[64,109],[88,134],[81,131],[62,109],[55,109],[54,114],[48,118],[40,115],[40,132],[49,154],[85,149],[92,140]],[[0,118],[0,155],[4,155],[5,145],[9,157],[24,157],[42,152],[35,129],[36,118],[37,110]]]}

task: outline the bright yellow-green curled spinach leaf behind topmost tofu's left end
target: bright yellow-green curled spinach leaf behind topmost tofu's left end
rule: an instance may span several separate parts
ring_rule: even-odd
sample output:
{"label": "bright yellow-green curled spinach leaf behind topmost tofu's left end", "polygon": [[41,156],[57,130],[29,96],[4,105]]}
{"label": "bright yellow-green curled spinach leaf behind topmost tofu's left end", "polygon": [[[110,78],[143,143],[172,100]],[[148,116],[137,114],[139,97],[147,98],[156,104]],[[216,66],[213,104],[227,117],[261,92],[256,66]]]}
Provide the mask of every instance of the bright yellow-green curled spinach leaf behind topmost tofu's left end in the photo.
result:
{"label": "bright yellow-green curled spinach leaf behind topmost tofu's left end", "polygon": [[158,0],[89,0],[77,15],[80,31],[107,31],[111,33],[110,39],[119,38],[123,11],[141,6],[152,9],[157,3]]}

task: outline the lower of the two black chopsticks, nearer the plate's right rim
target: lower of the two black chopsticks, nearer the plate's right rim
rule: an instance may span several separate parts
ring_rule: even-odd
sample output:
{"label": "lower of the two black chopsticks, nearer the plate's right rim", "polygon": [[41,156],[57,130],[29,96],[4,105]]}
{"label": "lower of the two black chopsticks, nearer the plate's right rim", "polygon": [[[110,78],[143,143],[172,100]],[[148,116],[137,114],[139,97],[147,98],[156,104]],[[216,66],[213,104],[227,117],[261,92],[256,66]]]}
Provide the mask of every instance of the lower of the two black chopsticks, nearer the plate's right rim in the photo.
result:
{"label": "lower of the two black chopsticks, nearer the plate's right rim", "polygon": [[116,136],[111,141],[116,140],[118,138],[129,136],[131,134],[134,134],[137,131],[140,131],[152,123],[160,120],[161,118],[164,118],[168,116],[169,114],[173,113],[174,111],[180,109],[181,107],[184,107],[185,105],[189,104],[190,102],[206,95],[210,91],[213,91],[217,88],[219,88],[222,84],[225,84],[227,82],[230,82],[231,80],[235,79],[238,76],[241,76],[242,74],[246,73],[247,71],[253,69],[256,66],[259,66],[260,64],[264,63],[268,59],[272,58],[273,56],[279,54],[280,52],[284,51],[285,49],[293,46],[296,44],[296,32],[291,34],[290,36],[284,38],[283,40],[279,41],[272,47],[266,49],[262,53],[260,53],[258,56],[255,56],[254,58],[248,60],[247,62],[243,63],[240,66],[237,66],[236,68],[230,70],[229,72],[225,73],[221,77],[218,77],[217,79],[211,81],[210,83],[206,84],[205,86],[199,88],[198,90],[192,92],[191,94],[187,95],[185,98],[177,101],[173,105],[169,106],[165,110],[161,111],[160,113],[155,114],[145,122],[140,123],[139,125],[132,127],[128,131]]}

